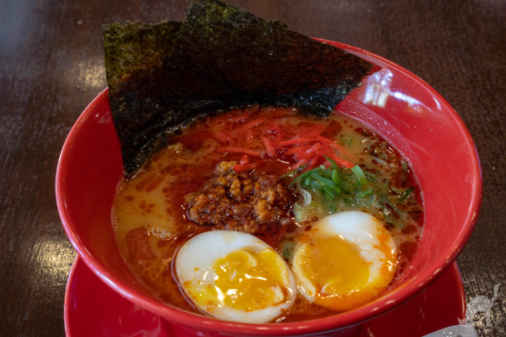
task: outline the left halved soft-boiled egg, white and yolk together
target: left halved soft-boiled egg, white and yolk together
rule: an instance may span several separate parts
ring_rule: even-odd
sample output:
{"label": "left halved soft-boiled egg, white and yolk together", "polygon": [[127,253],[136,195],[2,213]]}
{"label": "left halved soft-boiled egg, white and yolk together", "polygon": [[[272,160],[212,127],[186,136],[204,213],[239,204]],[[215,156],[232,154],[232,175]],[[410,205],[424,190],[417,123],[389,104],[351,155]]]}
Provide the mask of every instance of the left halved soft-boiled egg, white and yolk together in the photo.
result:
{"label": "left halved soft-boiled egg, white and yolk together", "polygon": [[265,323],[293,304],[297,286],[283,258],[259,238],[215,230],[188,240],[176,274],[188,299],[216,318]]}

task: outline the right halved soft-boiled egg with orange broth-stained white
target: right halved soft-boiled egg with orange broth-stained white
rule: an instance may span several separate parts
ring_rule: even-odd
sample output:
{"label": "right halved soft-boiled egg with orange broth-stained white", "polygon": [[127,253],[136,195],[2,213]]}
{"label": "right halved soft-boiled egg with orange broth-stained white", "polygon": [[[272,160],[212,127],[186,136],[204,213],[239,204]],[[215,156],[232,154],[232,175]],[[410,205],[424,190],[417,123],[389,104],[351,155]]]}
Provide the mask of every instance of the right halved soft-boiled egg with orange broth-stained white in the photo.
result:
{"label": "right halved soft-boiled egg with orange broth-stained white", "polygon": [[308,301],[346,311],[385,291],[395,274],[397,248],[375,217],[339,212],[302,234],[291,263],[299,292]]}

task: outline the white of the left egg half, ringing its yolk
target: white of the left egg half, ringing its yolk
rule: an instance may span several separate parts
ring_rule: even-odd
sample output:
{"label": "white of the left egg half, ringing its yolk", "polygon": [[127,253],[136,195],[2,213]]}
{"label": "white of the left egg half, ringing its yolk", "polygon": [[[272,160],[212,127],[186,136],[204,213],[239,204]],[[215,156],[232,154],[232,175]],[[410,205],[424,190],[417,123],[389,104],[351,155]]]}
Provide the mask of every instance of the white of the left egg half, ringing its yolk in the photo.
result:
{"label": "white of the left egg half, ringing its yolk", "polygon": [[265,249],[275,253],[259,238],[242,232],[215,230],[195,235],[181,247],[176,256],[176,274],[181,288],[199,310],[216,318],[248,323],[270,322],[289,309],[297,295],[294,277],[277,253],[277,263],[282,266],[282,275],[287,276],[285,284],[277,285],[278,295],[283,298],[281,303],[273,303],[257,310],[244,310],[230,307],[220,298],[213,298],[212,301],[207,298],[207,301],[204,301],[207,303],[202,303],[199,299],[206,287],[216,287],[215,280],[218,275],[213,266],[218,259],[238,250],[257,253]]}

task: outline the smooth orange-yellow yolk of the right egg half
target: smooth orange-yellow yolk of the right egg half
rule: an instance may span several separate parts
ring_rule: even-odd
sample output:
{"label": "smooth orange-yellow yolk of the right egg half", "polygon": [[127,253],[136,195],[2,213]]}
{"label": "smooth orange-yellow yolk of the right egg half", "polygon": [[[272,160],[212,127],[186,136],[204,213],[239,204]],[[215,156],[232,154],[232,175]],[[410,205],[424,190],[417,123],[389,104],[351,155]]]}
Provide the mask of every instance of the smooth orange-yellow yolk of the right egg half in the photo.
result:
{"label": "smooth orange-yellow yolk of the right egg half", "polygon": [[304,244],[294,256],[294,264],[314,285],[314,295],[320,297],[346,296],[369,278],[367,262],[339,236],[317,237]]}

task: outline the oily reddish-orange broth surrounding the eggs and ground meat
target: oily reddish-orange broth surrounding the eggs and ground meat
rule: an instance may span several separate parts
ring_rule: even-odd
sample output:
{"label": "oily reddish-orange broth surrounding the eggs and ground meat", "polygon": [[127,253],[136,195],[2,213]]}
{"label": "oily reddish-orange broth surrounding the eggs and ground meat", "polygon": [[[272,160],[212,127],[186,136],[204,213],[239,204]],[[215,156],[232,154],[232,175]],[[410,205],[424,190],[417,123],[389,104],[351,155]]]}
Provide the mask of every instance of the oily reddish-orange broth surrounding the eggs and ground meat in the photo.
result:
{"label": "oily reddish-orange broth surrounding the eggs and ground meat", "polygon": [[[308,134],[316,135],[313,139],[321,145],[315,146],[309,138],[290,144],[290,139]],[[381,193],[362,190],[361,198],[352,194],[329,200],[313,190],[312,201],[318,208],[303,206],[301,181],[291,182],[302,172],[325,164],[323,156],[304,157],[320,151],[319,146],[325,147],[322,138],[335,139],[340,158],[345,163],[358,164],[367,185]],[[306,148],[309,146],[315,146],[313,152]],[[232,110],[207,116],[184,128],[141,172],[118,184],[111,218],[121,255],[139,280],[167,304],[200,312],[187,300],[176,280],[174,258],[190,237],[218,228],[207,218],[198,224],[189,215],[194,214],[190,208],[195,205],[195,197],[205,194],[206,188],[209,190],[209,182],[217,181],[215,168],[223,162],[237,162],[231,165],[238,170],[242,182],[272,174],[284,187],[286,205],[280,206],[273,218],[247,228],[239,224],[235,229],[264,240],[288,262],[291,244],[317,219],[349,210],[375,216],[392,234],[399,252],[394,279],[402,274],[416,250],[423,223],[419,188],[407,163],[374,131],[340,113],[321,120],[294,109],[254,106]],[[296,165],[300,163],[303,166],[298,170]],[[355,181],[350,172],[342,172],[344,179]],[[383,202],[378,206],[380,199]],[[234,219],[226,221],[236,223]],[[255,222],[255,217],[248,221]],[[218,222],[223,223],[223,218]],[[335,313],[338,311],[298,295],[293,306],[276,321],[301,321]]]}

